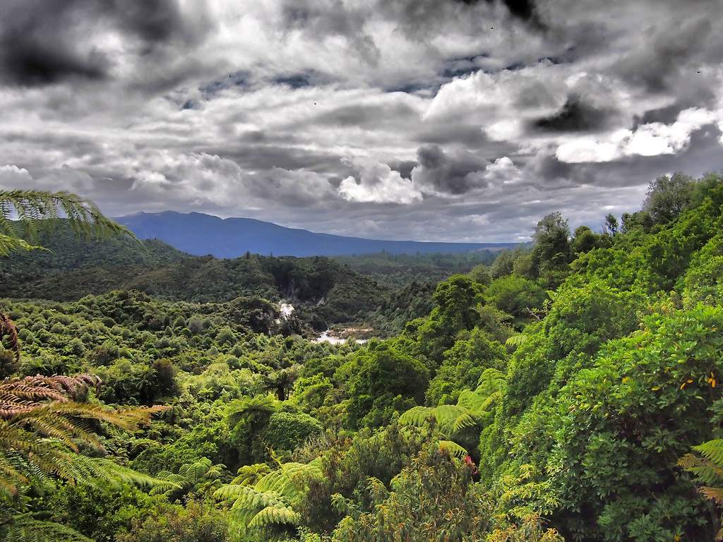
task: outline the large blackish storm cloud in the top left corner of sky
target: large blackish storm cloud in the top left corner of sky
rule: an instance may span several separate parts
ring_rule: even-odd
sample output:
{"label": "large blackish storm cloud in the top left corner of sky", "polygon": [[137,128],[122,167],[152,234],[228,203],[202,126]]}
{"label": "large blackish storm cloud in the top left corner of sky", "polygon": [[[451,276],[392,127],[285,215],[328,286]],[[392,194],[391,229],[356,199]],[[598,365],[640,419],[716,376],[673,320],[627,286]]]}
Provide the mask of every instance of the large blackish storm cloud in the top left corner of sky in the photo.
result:
{"label": "large blackish storm cloud in the top left corner of sky", "polygon": [[108,29],[121,32],[131,46],[140,44],[141,55],[196,36],[176,0],[4,0],[0,82],[35,86],[103,79],[114,64],[102,43]]}

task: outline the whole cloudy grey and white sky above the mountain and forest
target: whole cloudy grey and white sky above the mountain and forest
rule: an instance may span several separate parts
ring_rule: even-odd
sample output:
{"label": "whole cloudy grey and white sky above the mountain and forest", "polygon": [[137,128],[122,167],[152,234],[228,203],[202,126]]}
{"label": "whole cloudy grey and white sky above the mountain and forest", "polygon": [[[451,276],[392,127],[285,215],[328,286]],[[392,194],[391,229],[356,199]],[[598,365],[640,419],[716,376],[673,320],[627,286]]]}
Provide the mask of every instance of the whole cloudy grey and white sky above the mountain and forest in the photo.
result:
{"label": "whole cloudy grey and white sky above the mountain and forest", "polygon": [[723,169],[720,0],[2,0],[0,189],[415,241]]}

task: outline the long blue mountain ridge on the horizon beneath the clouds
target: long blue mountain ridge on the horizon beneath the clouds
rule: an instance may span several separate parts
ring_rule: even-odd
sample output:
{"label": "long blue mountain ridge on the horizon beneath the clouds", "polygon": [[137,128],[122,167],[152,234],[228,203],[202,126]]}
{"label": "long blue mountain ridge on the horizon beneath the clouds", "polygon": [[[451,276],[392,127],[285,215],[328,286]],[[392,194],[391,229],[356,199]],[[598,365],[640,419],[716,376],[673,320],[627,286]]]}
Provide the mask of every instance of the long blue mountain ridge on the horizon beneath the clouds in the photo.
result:
{"label": "long blue mountain ridge on the horizon beneath the clouds", "polygon": [[218,258],[236,258],[246,252],[308,257],[382,251],[390,254],[494,251],[516,246],[515,243],[427,243],[335,236],[284,228],[253,218],[218,218],[200,212],[138,212],[114,220],[127,226],[138,238],[156,238],[189,254],[213,254]]}

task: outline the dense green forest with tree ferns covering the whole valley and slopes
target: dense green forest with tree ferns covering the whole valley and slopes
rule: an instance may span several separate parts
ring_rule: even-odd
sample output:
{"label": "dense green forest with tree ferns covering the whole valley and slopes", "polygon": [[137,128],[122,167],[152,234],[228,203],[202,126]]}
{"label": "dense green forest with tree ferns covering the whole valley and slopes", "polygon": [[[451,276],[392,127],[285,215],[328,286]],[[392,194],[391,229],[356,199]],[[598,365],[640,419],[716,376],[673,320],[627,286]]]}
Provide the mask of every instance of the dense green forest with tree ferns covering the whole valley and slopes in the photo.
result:
{"label": "dense green forest with tree ferns covering the whole valley and slopes", "polygon": [[[322,258],[187,259],[147,245],[134,259],[129,238],[111,239],[127,255],[95,262],[67,239],[52,254],[10,251],[0,535],[713,540],[722,231],[723,176],[676,173],[602,232],[552,213],[530,247],[436,285],[380,285]],[[43,275],[45,257],[65,263]],[[92,289],[103,277],[112,291]],[[336,308],[317,311],[335,288]],[[280,314],[282,299],[298,316]],[[344,318],[393,337],[305,338]],[[48,449],[72,453],[79,472],[35,459]]]}

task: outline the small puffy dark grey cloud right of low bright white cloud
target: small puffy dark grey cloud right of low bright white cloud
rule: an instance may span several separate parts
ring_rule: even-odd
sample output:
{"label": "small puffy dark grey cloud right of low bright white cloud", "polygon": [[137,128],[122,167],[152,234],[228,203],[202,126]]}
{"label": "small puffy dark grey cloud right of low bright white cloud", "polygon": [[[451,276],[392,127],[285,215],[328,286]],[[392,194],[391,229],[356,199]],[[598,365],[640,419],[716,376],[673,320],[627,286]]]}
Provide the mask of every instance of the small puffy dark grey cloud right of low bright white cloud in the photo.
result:
{"label": "small puffy dark grey cloud right of low bright white cloud", "polygon": [[416,159],[419,165],[411,172],[414,183],[446,194],[469,192],[479,184],[473,173],[487,166],[487,160],[478,155],[466,151],[448,154],[439,145],[422,145]]}

